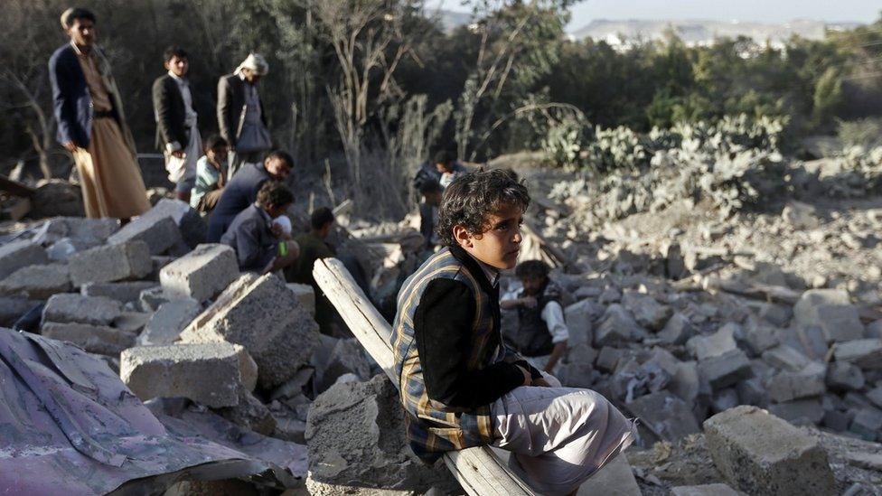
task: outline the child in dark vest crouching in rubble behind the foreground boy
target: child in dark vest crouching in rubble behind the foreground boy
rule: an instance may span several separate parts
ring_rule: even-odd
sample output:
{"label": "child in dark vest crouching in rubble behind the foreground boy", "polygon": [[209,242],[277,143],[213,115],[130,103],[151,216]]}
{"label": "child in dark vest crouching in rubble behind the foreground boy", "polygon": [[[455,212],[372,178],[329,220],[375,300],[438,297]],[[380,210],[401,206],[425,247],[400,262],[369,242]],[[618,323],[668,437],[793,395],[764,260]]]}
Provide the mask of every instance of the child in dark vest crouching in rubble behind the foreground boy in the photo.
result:
{"label": "child in dark vest crouching in rubble behind the foreground boy", "polygon": [[516,310],[518,325],[503,330],[514,351],[530,365],[552,373],[567,352],[569,330],[560,305],[560,286],[549,279],[549,266],[541,260],[527,260],[514,269],[522,287],[502,296],[502,310]]}

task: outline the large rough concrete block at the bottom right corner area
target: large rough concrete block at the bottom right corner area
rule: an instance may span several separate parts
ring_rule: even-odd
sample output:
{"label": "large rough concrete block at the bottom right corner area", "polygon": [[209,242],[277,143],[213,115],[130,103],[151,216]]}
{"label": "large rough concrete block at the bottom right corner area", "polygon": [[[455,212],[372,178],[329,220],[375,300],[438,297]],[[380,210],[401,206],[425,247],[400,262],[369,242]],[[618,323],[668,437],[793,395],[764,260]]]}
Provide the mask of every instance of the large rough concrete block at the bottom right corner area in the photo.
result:
{"label": "large rough concrete block at the bottom right corner area", "polygon": [[750,494],[833,494],[827,454],[810,435],[757,407],[735,407],[704,422],[714,464]]}

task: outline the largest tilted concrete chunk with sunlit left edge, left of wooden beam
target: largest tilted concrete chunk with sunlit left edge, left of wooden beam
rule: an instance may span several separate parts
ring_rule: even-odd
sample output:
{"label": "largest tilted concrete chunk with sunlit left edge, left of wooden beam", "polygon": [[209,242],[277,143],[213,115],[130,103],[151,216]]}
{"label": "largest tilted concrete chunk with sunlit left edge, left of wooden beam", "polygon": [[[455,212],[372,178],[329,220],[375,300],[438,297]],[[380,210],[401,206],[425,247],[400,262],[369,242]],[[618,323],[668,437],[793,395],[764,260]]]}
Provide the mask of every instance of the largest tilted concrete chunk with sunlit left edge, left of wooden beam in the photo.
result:
{"label": "largest tilted concrete chunk with sunlit left edge, left of wooden beam", "polygon": [[258,364],[261,387],[275,388],[309,363],[318,325],[277,276],[246,274],[181,333],[181,340],[241,344]]}

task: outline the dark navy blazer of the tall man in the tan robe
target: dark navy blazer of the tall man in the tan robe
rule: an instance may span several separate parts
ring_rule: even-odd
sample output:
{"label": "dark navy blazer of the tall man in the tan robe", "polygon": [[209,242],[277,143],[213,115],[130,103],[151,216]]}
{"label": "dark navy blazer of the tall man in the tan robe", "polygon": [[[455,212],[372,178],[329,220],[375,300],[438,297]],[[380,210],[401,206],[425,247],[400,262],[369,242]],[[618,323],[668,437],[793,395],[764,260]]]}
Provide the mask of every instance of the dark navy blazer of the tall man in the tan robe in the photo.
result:
{"label": "dark navy blazer of the tall man in the tan robe", "polygon": [[[97,50],[97,48],[93,49]],[[49,80],[52,82],[52,109],[58,123],[56,139],[61,145],[72,141],[89,148],[92,132],[92,97],[86,76],[70,43],[61,46],[49,59]],[[111,103],[113,98],[110,98]],[[120,122],[117,108],[114,117]]]}

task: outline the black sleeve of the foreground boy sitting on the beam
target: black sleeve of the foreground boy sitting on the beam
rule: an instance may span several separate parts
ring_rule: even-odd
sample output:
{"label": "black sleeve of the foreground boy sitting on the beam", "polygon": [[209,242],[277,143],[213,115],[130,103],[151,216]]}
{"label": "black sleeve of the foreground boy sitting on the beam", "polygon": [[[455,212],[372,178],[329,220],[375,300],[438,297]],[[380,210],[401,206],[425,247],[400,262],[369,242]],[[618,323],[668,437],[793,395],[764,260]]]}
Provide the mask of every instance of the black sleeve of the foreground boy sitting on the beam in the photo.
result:
{"label": "black sleeve of the foreground boy sitting on the beam", "polygon": [[426,392],[448,407],[489,405],[523,384],[523,373],[513,363],[467,369],[474,313],[468,286],[451,279],[430,282],[414,313],[414,340]]}

